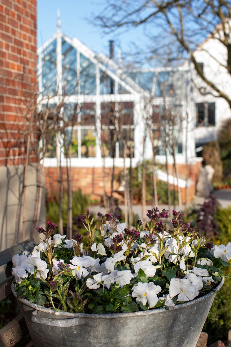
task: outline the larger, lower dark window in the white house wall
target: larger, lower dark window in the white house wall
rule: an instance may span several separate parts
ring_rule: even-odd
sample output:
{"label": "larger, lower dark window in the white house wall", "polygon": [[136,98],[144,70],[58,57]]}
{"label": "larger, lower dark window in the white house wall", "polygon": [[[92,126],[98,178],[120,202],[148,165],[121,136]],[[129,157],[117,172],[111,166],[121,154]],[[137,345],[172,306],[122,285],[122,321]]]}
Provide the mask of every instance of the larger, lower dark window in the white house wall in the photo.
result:
{"label": "larger, lower dark window in the white house wall", "polygon": [[197,125],[215,125],[215,102],[197,103]]}

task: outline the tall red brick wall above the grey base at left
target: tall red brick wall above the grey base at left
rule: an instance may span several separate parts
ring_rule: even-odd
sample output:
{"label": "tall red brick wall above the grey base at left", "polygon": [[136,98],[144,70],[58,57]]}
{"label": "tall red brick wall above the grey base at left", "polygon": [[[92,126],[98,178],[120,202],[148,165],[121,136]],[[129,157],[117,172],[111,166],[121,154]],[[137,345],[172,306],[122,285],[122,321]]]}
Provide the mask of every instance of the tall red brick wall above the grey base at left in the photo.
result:
{"label": "tall red brick wall above the grey base at left", "polygon": [[1,0],[0,37],[0,166],[18,165],[36,91],[36,0]]}

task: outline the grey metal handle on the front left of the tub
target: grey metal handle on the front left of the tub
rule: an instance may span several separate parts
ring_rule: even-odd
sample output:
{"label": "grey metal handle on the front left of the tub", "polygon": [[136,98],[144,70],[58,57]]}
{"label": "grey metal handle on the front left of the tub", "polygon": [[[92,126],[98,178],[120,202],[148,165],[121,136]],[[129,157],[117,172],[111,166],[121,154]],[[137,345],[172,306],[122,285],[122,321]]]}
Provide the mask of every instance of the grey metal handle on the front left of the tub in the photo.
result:
{"label": "grey metal handle on the front left of the tub", "polygon": [[50,325],[51,327],[74,327],[75,325],[88,325],[89,327],[95,328],[95,320],[89,320],[85,318],[60,318],[52,319],[40,316],[37,310],[32,312],[31,320],[33,323]]}

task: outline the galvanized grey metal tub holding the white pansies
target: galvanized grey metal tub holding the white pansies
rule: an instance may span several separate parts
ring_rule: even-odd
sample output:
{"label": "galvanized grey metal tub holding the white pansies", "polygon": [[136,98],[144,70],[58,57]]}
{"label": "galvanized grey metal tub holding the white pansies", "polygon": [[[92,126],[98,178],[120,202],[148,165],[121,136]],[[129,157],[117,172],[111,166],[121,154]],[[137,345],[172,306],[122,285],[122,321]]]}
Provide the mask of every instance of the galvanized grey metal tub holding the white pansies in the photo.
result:
{"label": "galvanized grey metal tub holding the white pansies", "polygon": [[[195,347],[216,292],[166,311],[87,314],[20,301],[34,347]],[[12,292],[17,293],[12,284]]]}

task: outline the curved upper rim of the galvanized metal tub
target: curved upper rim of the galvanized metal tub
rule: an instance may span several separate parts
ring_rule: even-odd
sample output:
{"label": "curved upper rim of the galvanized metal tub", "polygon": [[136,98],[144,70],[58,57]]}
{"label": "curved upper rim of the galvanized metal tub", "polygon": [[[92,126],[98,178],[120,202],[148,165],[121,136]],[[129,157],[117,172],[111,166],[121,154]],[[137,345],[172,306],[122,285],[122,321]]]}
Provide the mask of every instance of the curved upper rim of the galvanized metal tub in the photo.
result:
{"label": "curved upper rim of the galvanized metal tub", "polygon": [[171,306],[169,307],[169,310],[167,311],[165,308],[155,308],[155,309],[151,309],[151,310],[147,310],[147,311],[135,311],[135,312],[126,312],[126,313],[70,313],[70,312],[65,312],[65,311],[54,311],[51,308],[46,308],[43,306],[39,306],[37,304],[31,303],[30,301],[26,300],[26,299],[20,299],[17,296],[17,293],[15,291],[15,283],[12,282],[11,285],[11,290],[12,293],[14,294],[14,296],[24,305],[27,305],[31,308],[34,308],[34,310],[38,310],[38,311],[42,311],[45,312],[47,314],[51,314],[54,316],[59,316],[62,315],[61,319],[65,319],[65,318],[92,318],[92,319],[104,319],[104,318],[126,318],[126,317],[133,317],[135,316],[146,316],[146,315],[150,315],[153,313],[160,313],[160,312],[169,312],[169,311],[176,311],[179,310],[180,308],[183,307],[188,307],[194,304],[198,304],[199,302],[204,301],[205,299],[211,297],[212,295],[215,295],[217,293],[217,291],[219,291],[221,289],[221,287],[224,284],[224,277],[222,277],[219,285],[217,285],[213,290],[211,290],[208,294],[203,295],[197,299],[193,299],[191,301],[185,302],[184,304],[179,304],[176,306]]}

